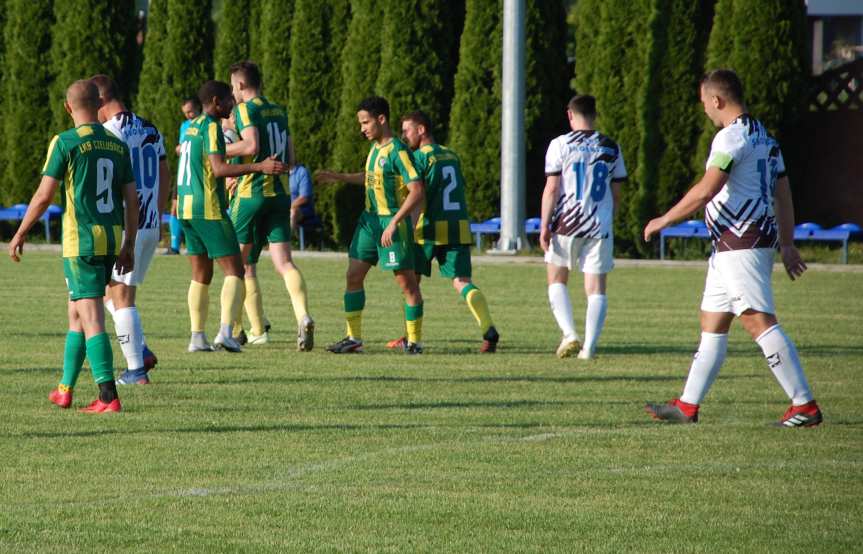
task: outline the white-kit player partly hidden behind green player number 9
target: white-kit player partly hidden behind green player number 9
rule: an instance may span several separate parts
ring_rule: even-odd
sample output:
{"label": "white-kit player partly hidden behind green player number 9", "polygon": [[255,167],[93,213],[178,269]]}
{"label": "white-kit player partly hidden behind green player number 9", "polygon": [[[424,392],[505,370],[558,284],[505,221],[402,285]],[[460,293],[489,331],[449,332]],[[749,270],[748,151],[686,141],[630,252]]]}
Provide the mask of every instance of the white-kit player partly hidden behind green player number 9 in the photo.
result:
{"label": "white-kit player partly hidden behind green player number 9", "polygon": [[138,189],[138,239],[135,242],[135,268],[116,271],[108,285],[105,307],[114,318],[117,340],[126,358],[127,369],[117,380],[120,384],[149,383],[147,371],[156,365],[156,356],[147,348],[141,316],[135,306],[138,285],[159,244],[161,214],[170,194],[170,173],[165,159],[162,135],[152,123],[128,111],[119,98],[117,84],[106,75],[90,79],[99,89],[102,107],[99,121],[129,147],[132,170]]}

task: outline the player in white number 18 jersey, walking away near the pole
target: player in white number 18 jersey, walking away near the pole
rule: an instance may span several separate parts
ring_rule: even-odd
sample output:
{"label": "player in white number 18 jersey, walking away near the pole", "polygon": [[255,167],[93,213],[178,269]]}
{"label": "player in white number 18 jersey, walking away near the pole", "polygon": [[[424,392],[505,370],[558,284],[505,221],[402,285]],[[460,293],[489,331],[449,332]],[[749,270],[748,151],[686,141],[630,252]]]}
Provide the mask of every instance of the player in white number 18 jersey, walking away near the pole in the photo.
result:
{"label": "player in white number 18 jersey, walking away near the pole", "polygon": [[[545,190],[539,243],[545,251],[548,301],[563,333],[557,355],[590,359],[605,323],[606,274],[614,267],[614,210],[626,180],[620,147],[593,128],[596,100],[573,97],[567,105],[571,133],[551,141],[545,155]],[[569,272],[584,273],[587,313],[584,347],[575,331]]]}

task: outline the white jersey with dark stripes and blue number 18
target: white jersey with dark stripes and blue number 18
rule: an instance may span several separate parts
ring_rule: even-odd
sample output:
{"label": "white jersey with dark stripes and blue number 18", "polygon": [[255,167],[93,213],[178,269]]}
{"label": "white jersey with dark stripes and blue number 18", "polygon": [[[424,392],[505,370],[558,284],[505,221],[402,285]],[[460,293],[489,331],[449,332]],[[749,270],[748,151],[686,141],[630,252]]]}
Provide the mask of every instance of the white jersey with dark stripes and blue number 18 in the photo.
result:
{"label": "white jersey with dark stripes and blue number 18", "polygon": [[616,142],[593,130],[561,135],[548,146],[545,174],[561,176],[551,216],[553,233],[577,238],[612,235],[611,183],[627,177]]}

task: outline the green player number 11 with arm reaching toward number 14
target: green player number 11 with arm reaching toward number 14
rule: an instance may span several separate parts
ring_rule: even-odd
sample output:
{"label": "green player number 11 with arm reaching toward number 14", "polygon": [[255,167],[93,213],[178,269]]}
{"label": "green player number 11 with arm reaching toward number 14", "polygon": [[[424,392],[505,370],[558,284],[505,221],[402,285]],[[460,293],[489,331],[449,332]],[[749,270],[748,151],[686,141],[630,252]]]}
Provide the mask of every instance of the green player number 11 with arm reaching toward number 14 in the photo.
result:
{"label": "green player number 11 with arm reaching toward number 14", "polygon": [[177,205],[186,250],[192,265],[189,285],[189,318],[192,340],[190,352],[212,350],[204,334],[209,305],[208,290],[213,279],[213,260],[225,274],[221,293],[219,333],[213,344],[229,352],[241,352],[231,330],[240,316],[246,290],[243,286],[243,262],[234,225],[228,217],[225,177],[248,173],[285,173],[288,166],[275,157],[256,163],[228,164],[225,161],[225,138],[219,120],[234,108],[231,87],[221,81],[207,81],[198,91],[204,113],[192,120],[186,129],[180,150],[177,172]]}

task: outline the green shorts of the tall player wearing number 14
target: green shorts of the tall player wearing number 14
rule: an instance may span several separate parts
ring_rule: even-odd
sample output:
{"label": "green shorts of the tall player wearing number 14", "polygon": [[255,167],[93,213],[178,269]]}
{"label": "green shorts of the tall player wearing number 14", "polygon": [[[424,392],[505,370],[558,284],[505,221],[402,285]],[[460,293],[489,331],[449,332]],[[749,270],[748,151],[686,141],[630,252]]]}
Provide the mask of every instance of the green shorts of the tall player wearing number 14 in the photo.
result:
{"label": "green shorts of the tall player wearing number 14", "polygon": [[291,197],[252,196],[231,200],[231,221],[240,244],[291,241]]}

